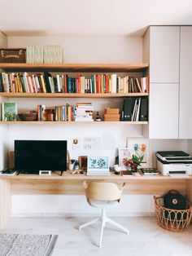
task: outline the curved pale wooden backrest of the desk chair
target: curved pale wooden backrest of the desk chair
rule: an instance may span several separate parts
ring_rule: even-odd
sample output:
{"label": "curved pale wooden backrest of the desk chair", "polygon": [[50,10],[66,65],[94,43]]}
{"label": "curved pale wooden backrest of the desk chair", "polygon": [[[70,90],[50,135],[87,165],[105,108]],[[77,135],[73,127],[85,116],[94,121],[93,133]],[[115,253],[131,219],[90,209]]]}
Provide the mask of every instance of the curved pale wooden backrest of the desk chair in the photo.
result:
{"label": "curved pale wooden backrest of the desk chair", "polygon": [[120,189],[116,183],[90,182],[84,183],[84,188],[88,199],[113,201],[120,200],[124,186]]}

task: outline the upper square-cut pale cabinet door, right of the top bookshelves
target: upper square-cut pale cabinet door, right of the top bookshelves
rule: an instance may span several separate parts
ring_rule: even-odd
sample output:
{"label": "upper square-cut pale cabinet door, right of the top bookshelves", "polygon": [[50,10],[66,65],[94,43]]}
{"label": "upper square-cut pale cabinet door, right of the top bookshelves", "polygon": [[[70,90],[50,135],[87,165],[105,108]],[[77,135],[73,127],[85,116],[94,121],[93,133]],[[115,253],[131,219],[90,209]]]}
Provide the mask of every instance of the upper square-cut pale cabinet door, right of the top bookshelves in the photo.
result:
{"label": "upper square-cut pale cabinet door, right of the top bookshelves", "polygon": [[180,27],[150,28],[151,82],[179,82]]}

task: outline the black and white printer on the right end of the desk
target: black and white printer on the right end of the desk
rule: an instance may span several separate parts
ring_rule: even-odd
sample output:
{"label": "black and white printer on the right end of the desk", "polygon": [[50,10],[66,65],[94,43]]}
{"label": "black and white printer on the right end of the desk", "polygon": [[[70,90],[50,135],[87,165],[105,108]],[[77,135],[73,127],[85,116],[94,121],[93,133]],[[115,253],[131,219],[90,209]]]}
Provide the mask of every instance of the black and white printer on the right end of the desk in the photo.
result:
{"label": "black and white printer on the right end of the desk", "polygon": [[163,175],[192,175],[192,157],[183,151],[158,151],[157,170]]}

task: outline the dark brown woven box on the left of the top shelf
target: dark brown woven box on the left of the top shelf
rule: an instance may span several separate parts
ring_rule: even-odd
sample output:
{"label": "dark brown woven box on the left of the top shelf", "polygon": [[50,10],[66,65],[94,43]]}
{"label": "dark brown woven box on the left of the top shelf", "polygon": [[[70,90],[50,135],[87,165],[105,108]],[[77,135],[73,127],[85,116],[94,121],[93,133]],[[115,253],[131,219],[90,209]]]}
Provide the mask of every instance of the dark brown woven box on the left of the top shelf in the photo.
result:
{"label": "dark brown woven box on the left of the top shelf", "polygon": [[26,63],[26,48],[0,48],[0,63]]}

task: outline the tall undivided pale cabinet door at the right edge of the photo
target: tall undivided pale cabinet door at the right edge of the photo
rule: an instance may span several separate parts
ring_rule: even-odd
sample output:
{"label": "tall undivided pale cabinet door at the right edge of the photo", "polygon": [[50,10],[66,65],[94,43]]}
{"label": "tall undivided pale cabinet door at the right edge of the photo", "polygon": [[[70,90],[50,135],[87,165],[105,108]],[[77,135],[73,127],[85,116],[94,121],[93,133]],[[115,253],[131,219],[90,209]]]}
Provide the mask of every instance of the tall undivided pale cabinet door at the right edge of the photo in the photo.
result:
{"label": "tall undivided pale cabinet door at the right edge of the photo", "polygon": [[192,27],[181,27],[179,138],[192,139]]}

